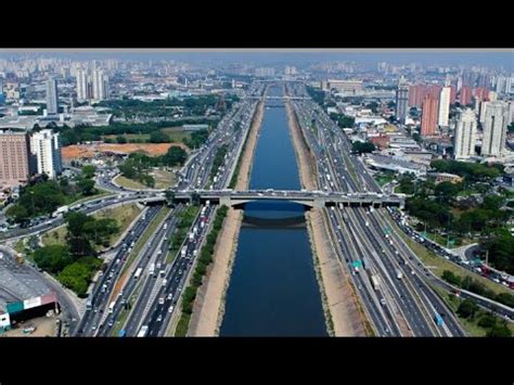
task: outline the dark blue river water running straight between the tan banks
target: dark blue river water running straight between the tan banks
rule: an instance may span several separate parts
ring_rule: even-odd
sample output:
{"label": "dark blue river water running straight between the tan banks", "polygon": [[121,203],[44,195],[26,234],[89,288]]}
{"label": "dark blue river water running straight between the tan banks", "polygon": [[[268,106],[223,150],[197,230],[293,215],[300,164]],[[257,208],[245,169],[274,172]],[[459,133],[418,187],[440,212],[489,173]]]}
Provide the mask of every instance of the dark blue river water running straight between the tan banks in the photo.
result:
{"label": "dark blue river water running straight between the tan banks", "polygon": [[[269,95],[282,95],[270,87]],[[287,116],[268,101],[249,189],[299,190]],[[227,292],[221,336],[326,336],[304,208],[248,203]]]}

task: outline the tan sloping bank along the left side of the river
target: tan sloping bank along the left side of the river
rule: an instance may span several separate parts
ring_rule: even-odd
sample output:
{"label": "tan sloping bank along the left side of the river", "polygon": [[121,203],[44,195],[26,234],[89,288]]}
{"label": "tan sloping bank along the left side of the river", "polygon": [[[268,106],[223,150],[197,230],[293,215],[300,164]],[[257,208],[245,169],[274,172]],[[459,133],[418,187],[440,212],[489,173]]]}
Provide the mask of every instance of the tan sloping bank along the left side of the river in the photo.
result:
{"label": "tan sloping bank along the left side of the river", "polygon": [[[235,190],[248,188],[255,147],[259,138],[265,103],[257,106],[254,123],[241,154],[241,167]],[[243,211],[229,208],[223,230],[216,242],[213,264],[207,269],[203,285],[196,294],[193,315],[189,326],[190,336],[216,336],[224,315],[224,297],[229,287],[232,265],[237,249],[239,232],[243,221]]]}

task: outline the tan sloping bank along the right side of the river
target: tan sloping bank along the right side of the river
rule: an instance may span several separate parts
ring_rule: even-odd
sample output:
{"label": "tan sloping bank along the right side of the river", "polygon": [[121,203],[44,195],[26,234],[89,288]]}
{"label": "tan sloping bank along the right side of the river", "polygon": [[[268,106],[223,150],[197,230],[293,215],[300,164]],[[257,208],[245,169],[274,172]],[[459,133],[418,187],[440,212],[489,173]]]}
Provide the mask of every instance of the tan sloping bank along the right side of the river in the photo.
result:
{"label": "tan sloping bank along the right side of the river", "polygon": [[[317,190],[316,168],[301,129],[288,103],[285,103],[285,110],[301,187]],[[365,336],[364,322],[351,295],[351,287],[343,266],[330,242],[322,210],[313,208],[310,213],[306,213],[306,221],[329,332],[335,336]]]}

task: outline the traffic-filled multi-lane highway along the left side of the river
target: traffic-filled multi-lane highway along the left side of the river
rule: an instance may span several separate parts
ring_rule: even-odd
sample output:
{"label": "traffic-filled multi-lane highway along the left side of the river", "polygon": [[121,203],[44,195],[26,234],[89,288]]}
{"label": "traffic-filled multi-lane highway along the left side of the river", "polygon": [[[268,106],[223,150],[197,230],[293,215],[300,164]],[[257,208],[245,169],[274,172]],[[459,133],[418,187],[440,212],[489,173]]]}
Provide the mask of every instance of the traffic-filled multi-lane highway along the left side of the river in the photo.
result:
{"label": "traffic-filled multi-lane highway along the left side of the river", "polygon": [[[264,90],[264,85],[256,85],[250,88],[249,92],[250,94],[261,94]],[[257,104],[258,101],[246,100],[232,106],[218,127],[211,132],[207,142],[188,159],[187,165],[179,175],[176,188],[188,190],[205,188],[207,184],[210,185],[210,189],[227,187],[249,131]],[[226,156],[218,169],[211,172],[216,153],[222,145],[227,146]],[[107,179],[108,177],[113,177],[113,174],[102,175],[102,180],[99,181],[99,184],[112,188],[112,183]],[[134,196],[134,194],[138,194],[139,200],[164,201],[164,192],[158,191],[125,193],[127,196]],[[172,306],[179,300],[180,293],[194,265],[194,258],[198,254],[196,245],[200,246],[208,232],[208,226],[205,226],[205,223],[209,223],[213,215],[216,213],[215,207],[210,205],[204,206],[203,214],[195,218],[192,229],[188,233],[189,236],[184,240],[183,247],[174,258],[174,261],[167,264],[169,240],[177,224],[176,216],[182,209],[182,205],[178,205],[174,209],[166,220],[167,229],[165,230],[164,227],[159,228],[154,234],[151,245],[147,245],[141,252],[140,256],[129,268],[131,278],[125,281],[120,291],[123,294],[116,298],[111,298],[118,279],[118,271],[116,269],[113,270],[114,275],[111,283],[105,287],[105,292],[99,295],[99,299],[95,300],[94,306],[97,308],[93,306],[92,311],[87,313],[89,318],[86,319],[85,317],[86,320],[81,323],[81,328],[78,329],[78,335],[111,335],[114,325],[117,322],[121,322],[119,318],[127,303],[133,303],[134,306],[128,309],[128,317],[123,322],[123,325],[120,325],[126,335],[138,335],[142,322],[151,326],[149,328],[149,334],[163,334],[166,331],[167,323],[172,316],[172,310],[175,310]],[[196,231],[191,231],[193,229],[196,229]],[[110,265],[110,268],[112,265],[113,262]],[[159,271],[156,274],[149,273],[151,265],[155,267],[160,265],[160,269],[158,269]],[[143,273],[138,279],[134,279],[132,273],[139,269]],[[99,285],[99,287],[101,286]],[[97,311],[97,316],[90,316],[94,311]]]}

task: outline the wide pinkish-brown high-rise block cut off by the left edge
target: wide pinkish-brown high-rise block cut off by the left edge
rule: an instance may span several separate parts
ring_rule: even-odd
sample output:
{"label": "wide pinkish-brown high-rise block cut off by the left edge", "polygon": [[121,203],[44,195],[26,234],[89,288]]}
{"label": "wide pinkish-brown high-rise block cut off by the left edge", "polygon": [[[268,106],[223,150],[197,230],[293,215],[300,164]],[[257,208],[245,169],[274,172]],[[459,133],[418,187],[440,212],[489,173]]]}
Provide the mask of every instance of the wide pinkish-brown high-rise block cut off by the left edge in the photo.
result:
{"label": "wide pinkish-brown high-rise block cut off by the left edge", "polygon": [[28,133],[0,131],[0,184],[25,183],[34,172]]}

